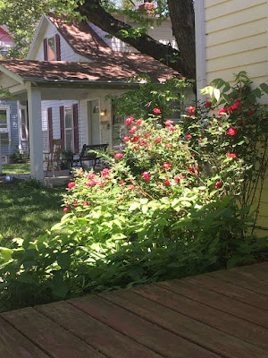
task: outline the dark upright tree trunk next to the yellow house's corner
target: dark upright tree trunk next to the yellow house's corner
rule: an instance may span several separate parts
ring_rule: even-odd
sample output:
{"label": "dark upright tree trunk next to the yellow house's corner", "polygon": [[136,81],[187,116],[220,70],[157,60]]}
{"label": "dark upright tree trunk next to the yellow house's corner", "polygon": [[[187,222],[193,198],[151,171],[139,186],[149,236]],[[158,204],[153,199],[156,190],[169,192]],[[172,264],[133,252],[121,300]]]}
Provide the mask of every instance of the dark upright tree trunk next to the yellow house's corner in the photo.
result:
{"label": "dark upright tree trunk next to the yellow house's corner", "polygon": [[193,0],[167,0],[173,35],[188,79],[196,78],[195,13]]}

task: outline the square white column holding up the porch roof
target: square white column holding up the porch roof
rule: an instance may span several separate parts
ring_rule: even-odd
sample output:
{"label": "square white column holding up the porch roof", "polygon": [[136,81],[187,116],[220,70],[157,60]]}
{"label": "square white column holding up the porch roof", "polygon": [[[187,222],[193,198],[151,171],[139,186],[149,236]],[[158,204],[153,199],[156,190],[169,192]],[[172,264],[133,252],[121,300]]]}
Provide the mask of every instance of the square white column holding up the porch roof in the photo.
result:
{"label": "square white column holding up the porch roof", "polygon": [[28,111],[30,174],[38,180],[43,180],[43,133],[41,92],[39,90],[29,88]]}

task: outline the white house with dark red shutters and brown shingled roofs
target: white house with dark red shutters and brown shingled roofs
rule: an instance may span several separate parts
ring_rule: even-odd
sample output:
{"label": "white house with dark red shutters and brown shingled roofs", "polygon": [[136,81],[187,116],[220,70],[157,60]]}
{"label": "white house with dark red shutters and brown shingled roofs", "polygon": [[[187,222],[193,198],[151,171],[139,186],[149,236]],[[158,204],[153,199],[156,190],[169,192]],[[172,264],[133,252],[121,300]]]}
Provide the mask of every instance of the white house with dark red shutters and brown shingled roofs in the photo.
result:
{"label": "white house with dark red shutters and brown shingled roofs", "polygon": [[[175,46],[168,21],[163,32],[155,27],[155,38]],[[105,97],[130,90],[130,77],[147,74],[155,83],[182,78],[131,50],[86,21],[67,24],[50,15],[42,17],[26,60],[0,61],[0,85],[28,103],[31,175],[43,179],[43,151],[52,139],[61,138],[74,153],[83,144],[116,145],[122,124]]]}

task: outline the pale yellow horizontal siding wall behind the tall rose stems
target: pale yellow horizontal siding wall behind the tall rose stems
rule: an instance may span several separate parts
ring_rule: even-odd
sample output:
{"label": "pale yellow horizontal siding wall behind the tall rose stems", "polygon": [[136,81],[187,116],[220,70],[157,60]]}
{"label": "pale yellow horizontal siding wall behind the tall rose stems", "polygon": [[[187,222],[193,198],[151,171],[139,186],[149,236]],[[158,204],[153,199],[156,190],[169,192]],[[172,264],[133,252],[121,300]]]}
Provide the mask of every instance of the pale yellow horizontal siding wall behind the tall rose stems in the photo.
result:
{"label": "pale yellow horizontal siding wall behind the tall rose stems", "polygon": [[[247,71],[255,86],[268,81],[267,0],[205,0],[206,81],[233,81]],[[268,103],[268,96],[262,98]],[[268,178],[258,224],[268,229]],[[259,232],[267,234],[267,231]]]}

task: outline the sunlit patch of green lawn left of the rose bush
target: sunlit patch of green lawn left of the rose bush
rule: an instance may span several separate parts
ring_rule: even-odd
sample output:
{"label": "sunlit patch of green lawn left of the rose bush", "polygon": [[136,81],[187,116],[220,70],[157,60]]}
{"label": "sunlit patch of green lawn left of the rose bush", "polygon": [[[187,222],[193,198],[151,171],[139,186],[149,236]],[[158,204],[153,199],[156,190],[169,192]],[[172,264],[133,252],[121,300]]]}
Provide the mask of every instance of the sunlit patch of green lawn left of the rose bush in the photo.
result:
{"label": "sunlit patch of green lawn left of the rose bush", "polygon": [[38,187],[37,183],[19,180],[4,183],[4,178],[0,179],[0,234],[7,240],[44,234],[63,217],[63,192],[64,188]]}

